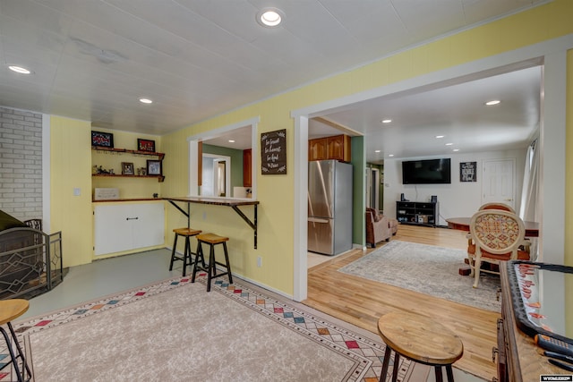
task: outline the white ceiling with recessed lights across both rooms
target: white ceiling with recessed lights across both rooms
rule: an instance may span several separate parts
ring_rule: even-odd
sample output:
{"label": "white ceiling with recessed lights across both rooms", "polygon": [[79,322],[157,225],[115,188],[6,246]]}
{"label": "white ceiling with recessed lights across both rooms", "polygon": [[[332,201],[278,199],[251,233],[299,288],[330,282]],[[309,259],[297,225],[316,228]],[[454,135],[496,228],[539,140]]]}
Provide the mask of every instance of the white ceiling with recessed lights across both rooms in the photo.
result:
{"label": "white ceiling with recessed lights across both rooms", "polygon": [[[0,105],[160,135],[547,2],[2,0]],[[276,29],[255,21],[266,6],[285,14]],[[11,72],[8,64],[33,74]],[[366,134],[371,161],[379,159],[371,157],[374,149],[397,157],[432,155],[437,149],[428,137],[436,133],[464,150],[482,141],[492,149],[523,144],[539,120],[540,71],[491,80],[376,100],[325,117]],[[143,105],[141,97],[154,102]],[[502,103],[484,109],[492,97]],[[394,123],[381,128],[382,116]],[[311,127],[311,134],[321,133]],[[419,139],[423,152],[415,150]]]}

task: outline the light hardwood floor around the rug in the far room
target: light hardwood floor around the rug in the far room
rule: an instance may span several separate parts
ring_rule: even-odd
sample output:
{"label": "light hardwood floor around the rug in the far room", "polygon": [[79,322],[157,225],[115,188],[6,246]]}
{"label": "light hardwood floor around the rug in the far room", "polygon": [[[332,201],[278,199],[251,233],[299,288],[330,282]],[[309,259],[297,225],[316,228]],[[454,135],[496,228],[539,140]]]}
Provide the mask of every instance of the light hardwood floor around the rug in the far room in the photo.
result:
{"label": "light hardwood floor around the rug in the far room", "polygon": [[[465,233],[460,231],[413,225],[399,225],[397,235],[391,240],[464,250],[467,245]],[[390,311],[411,311],[431,317],[458,334],[464,344],[464,355],[454,367],[492,380],[497,375],[492,348],[497,347],[496,323],[500,314],[337,271],[371,251],[354,250],[309,268],[308,299],[303,303],[372,333],[378,333],[378,319]]]}

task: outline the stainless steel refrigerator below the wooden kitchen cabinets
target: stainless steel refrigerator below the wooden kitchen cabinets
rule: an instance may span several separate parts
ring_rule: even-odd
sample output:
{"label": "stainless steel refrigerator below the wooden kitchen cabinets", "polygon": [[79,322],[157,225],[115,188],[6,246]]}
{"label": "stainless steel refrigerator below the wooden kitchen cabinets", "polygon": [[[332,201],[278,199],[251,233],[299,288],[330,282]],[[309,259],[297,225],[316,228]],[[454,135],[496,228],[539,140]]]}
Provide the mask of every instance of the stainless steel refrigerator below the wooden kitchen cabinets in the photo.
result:
{"label": "stainless steel refrigerator below the wooden kitchen cabinets", "polygon": [[352,165],[308,164],[308,250],[338,255],[352,249]]}

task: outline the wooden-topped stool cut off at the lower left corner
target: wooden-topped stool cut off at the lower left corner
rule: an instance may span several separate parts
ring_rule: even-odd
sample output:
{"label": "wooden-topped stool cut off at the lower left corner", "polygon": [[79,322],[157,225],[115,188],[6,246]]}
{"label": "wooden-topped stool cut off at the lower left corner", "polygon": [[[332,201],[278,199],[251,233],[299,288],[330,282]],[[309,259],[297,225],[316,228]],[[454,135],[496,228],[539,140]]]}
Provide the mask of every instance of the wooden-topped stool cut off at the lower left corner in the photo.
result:
{"label": "wooden-topped stool cut off at the lower left corner", "polygon": [[[4,369],[6,366],[12,363],[16,378],[18,378],[17,380],[19,382],[29,381],[32,377],[32,373],[28,363],[26,362],[24,353],[21,351],[21,346],[18,343],[18,338],[14,333],[11,321],[14,318],[19,318],[26,312],[26,310],[28,310],[28,308],[30,308],[30,303],[26,300],[13,299],[0,301],[0,332],[2,332],[2,335],[4,335],[4,341],[6,342],[6,347],[10,353],[10,361],[5,362],[0,369]],[[12,342],[16,347],[15,353],[11,344],[10,335],[8,335],[4,327],[2,327],[4,324],[6,324],[10,331],[10,335],[12,335]],[[21,360],[21,371],[20,367],[18,366],[18,359]]]}

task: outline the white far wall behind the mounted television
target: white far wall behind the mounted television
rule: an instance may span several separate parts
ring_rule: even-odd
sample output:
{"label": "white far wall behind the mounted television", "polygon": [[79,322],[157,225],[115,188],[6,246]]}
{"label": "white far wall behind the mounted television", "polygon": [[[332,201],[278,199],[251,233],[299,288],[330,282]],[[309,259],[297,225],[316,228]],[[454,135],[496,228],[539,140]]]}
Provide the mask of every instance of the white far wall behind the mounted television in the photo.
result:
{"label": "white far wall behind the mounted television", "polygon": [[[402,161],[422,158],[399,158],[384,160],[384,214],[396,217],[396,201],[404,192],[404,197],[411,201],[430,201],[432,195],[440,202],[439,225],[447,225],[449,217],[472,216],[482,205],[482,169],[483,161],[488,159],[514,158],[516,161],[516,209],[521,200],[521,185],[525,168],[526,149],[509,151],[491,151],[471,154],[452,154],[451,184],[402,184]],[[459,163],[477,162],[477,182],[459,182]]]}

